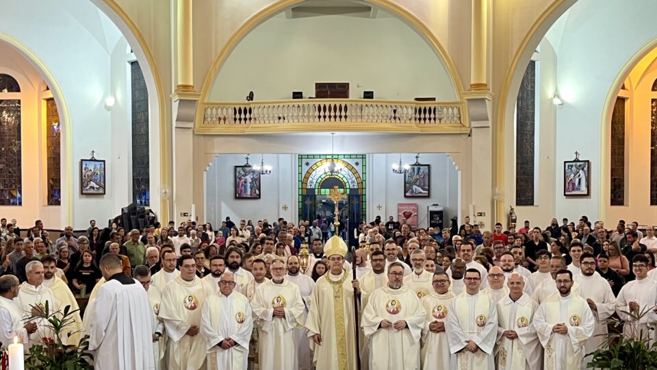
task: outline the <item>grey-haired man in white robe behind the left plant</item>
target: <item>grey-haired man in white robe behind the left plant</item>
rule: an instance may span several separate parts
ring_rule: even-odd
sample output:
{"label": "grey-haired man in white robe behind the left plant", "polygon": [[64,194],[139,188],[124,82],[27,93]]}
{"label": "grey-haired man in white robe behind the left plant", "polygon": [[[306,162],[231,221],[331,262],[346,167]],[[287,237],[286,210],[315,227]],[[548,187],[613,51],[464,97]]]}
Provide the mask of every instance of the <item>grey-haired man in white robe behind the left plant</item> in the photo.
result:
{"label": "grey-haired man in white robe behind the left plant", "polygon": [[[60,301],[55,298],[55,293],[43,284],[43,265],[39,261],[27,262],[25,266],[27,281],[20,287],[20,294],[16,297],[16,304],[23,310],[23,317],[31,317],[38,310],[44,310],[46,304],[50,312],[60,310]],[[37,308],[38,307],[38,308]],[[55,333],[49,328],[45,319],[35,319],[36,332],[29,336],[29,347],[41,343],[41,338],[53,338]],[[62,338],[63,339],[63,338]]]}

